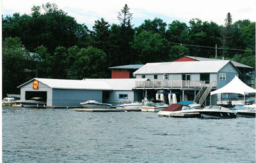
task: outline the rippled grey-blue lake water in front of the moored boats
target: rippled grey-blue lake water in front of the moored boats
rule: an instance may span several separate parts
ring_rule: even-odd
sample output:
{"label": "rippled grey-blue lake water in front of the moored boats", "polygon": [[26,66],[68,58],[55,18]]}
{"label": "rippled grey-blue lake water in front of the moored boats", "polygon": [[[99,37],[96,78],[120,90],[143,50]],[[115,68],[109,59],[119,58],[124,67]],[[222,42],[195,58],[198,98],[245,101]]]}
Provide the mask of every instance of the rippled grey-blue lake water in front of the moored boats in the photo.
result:
{"label": "rippled grey-blue lake water in front of the moored boats", "polygon": [[255,118],[3,107],[3,162],[255,162]]}

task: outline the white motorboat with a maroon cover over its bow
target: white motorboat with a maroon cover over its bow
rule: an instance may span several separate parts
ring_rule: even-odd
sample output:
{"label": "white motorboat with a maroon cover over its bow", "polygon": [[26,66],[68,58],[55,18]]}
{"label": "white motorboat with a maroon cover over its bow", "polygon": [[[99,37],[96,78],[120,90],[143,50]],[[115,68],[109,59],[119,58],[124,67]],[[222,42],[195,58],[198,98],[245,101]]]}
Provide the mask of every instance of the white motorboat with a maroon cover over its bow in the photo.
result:
{"label": "white motorboat with a maroon cover over its bow", "polygon": [[193,107],[189,107],[188,105],[172,104],[166,107],[166,109],[159,111],[157,114],[158,116],[195,118],[195,117],[200,117],[200,113],[198,111],[200,111],[200,109],[195,109]]}

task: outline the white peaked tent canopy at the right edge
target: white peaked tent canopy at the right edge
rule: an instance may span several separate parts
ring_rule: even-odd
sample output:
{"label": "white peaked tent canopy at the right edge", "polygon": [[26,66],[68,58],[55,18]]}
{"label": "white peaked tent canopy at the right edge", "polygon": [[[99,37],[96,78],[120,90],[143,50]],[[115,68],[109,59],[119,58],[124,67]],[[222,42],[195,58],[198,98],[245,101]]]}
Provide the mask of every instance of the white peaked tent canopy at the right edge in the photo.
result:
{"label": "white peaked tent canopy at the right edge", "polygon": [[247,93],[256,93],[256,89],[247,86],[236,76],[234,79],[232,79],[232,81],[228,82],[226,86],[223,86],[216,91],[211,91],[211,95],[218,93],[238,93],[241,95],[246,95]]}

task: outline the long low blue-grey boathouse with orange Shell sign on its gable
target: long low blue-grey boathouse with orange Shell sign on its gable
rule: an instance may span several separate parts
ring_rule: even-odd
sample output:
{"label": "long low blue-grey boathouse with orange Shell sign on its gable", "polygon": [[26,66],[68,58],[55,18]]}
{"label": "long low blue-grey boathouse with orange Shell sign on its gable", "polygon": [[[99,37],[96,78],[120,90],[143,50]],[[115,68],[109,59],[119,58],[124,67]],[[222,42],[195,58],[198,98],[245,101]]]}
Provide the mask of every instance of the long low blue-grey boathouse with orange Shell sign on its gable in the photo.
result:
{"label": "long low blue-grey boathouse with orange Shell sign on its gable", "polygon": [[113,105],[137,101],[143,98],[142,91],[133,90],[136,81],[147,79],[42,79],[34,78],[18,86],[20,100],[42,97],[47,106],[79,106],[86,100]]}

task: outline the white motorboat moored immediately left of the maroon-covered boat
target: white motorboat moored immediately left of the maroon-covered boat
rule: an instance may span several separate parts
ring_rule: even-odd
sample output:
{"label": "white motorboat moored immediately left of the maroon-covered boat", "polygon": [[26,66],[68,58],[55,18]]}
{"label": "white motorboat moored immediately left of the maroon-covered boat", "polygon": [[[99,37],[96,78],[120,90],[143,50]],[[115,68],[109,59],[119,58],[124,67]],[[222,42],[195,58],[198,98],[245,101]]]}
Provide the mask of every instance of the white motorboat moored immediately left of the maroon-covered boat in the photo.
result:
{"label": "white motorboat moored immediately left of the maroon-covered boat", "polygon": [[150,100],[147,104],[141,106],[141,111],[159,112],[169,105],[165,104],[162,100]]}

